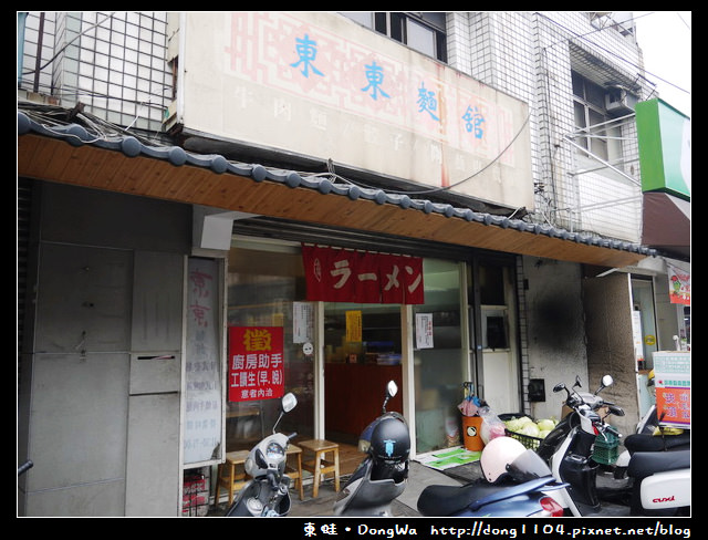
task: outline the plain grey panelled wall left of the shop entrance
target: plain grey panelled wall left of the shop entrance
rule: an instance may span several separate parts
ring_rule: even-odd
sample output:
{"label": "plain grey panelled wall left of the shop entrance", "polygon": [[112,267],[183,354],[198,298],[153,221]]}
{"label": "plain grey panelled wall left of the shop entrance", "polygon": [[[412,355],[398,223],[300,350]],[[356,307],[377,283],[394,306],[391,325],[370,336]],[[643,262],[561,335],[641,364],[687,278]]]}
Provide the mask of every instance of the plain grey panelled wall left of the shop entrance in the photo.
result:
{"label": "plain grey panelled wall left of the shop entrance", "polygon": [[[34,467],[22,478],[18,513],[177,516],[191,208],[34,187],[38,262],[28,269],[34,310],[22,347],[18,414],[19,460],[25,455]],[[149,380],[136,385],[140,372],[132,364],[136,354],[165,352],[175,356],[177,382],[169,406],[148,416],[152,405],[136,405],[155,402],[164,388],[153,392]]]}

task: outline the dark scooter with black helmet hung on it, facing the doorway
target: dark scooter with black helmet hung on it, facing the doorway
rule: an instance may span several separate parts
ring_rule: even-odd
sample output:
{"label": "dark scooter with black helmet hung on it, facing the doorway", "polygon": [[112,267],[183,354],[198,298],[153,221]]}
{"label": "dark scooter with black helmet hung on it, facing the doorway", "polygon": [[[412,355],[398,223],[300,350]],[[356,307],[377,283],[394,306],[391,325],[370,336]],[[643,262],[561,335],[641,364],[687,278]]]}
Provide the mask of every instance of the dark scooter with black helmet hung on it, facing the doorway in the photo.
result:
{"label": "dark scooter with black helmet hung on it, facing the doorway", "polygon": [[392,502],[406,488],[410,435],[405,418],[386,412],[388,399],[398,387],[394,381],[386,386],[382,414],[360,437],[360,450],[366,457],[337,494],[335,516],[391,517]]}

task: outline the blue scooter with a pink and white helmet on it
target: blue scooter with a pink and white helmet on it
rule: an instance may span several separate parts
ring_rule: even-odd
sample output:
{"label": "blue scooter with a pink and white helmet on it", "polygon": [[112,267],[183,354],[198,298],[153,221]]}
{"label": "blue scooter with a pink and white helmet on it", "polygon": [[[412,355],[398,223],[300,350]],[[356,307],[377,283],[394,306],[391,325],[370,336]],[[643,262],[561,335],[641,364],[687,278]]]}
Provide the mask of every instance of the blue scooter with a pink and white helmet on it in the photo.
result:
{"label": "blue scooter with a pink and white helmet on it", "polygon": [[427,517],[562,517],[566,484],[558,482],[538,454],[511,437],[482,449],[483,478],[464,486],[428,486],[418,498]]}

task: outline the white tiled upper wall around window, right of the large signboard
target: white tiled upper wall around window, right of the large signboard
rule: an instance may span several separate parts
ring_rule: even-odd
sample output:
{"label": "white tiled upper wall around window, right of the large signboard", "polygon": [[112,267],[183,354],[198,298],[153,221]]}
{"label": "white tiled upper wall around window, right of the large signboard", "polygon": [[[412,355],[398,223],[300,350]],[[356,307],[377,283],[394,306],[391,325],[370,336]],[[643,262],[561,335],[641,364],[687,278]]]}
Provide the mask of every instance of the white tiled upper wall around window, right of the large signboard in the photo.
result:
{"label": "white tiled upper wall around window, right of the large signboard", "polygon": [[[638,80],[642,58],[632,35],[598,29],[586,12],[455,12],[448,14],[449,63],[530,106],[537,211],[532,219],[573,231],[638,241],[641,190],[634,121],[624,123],[625,162],[579,175],[571,69],[604,84]],[[646,91],[644,91],[646,92]],[[642,95],[641,97],[646,97]],[[598,164],[600,165],[600,164]]]}

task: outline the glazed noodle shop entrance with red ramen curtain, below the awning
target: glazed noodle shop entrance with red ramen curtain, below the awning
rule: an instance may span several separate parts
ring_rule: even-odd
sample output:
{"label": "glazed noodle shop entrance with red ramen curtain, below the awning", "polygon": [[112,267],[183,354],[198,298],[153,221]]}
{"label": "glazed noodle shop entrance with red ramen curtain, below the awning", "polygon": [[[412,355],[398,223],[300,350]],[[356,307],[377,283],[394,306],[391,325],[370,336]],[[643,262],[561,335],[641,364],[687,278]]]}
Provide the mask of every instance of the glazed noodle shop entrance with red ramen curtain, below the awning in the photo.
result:
{"label": "glazed noodle shop entrance with red ramen curtain, below the awning", "polygon": [[[330,241],[322,245],[321,238],[308,235],[292,240],[299,236],[293,231],[274,239],[252,236],[258,227],[248,229],[239,233],[237,224],[229,252],[228,326],[230,332],[240,329],[239,335],[282,329],[277,339],[283,353],[283,388],[299,401],[284,419],[285,429],[356,444],[378,414],[389,380],[402,390],[389,406],[409,419],[417,453],[461,442],[457,405],[466,381],[491,392],[504,411],[521,406],[513,257],[479,253],[472,259],[469,250],[415,242],[402,253],[386,238],[356,246],[345,235],[327,231]],[[383,294],[340,289],[337,297],[322,291],[324,295],[316,297],[308,270],[312,258],[320,257],[325,271],[331,253],[347,262],[331,262],[332,269],[387,276],[382,289],[396,283],[409,292],[420,290],[413,298],[392,297],[395,287]],[[357,270],[353,257],[365,259],[361,264],[367,267]],[[404,274],[410,279],[405,281]],[[335,284],[344,282],[340,276]],[[233,346],[238,343],[230,340]],[[231,351],[228,357],[232,362]],[[247,383],[229,365],[227,377],[227,451],[252,445],[278,414],[278,399],[239,394]],[[251,381],[252,388],[260,387],[258,375]],[[233,392],[233,386],[239,388]]]}

